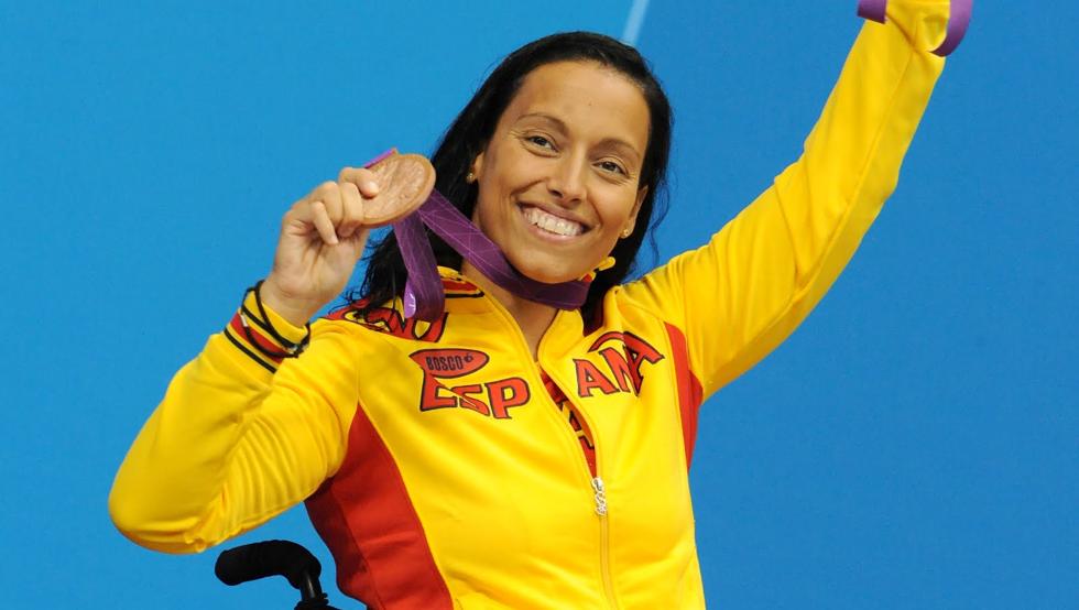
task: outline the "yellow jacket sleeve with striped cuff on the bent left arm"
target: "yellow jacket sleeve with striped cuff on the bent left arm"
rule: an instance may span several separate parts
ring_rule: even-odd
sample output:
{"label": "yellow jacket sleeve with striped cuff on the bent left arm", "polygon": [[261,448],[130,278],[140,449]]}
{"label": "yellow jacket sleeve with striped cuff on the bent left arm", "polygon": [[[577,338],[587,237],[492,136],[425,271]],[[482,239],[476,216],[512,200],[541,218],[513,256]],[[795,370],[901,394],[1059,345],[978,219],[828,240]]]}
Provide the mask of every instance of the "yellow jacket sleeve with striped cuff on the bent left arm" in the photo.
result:
{"label": "yellow jacket sleeve with striped cuff on the bent left arm", "polygon": [[135,543],[203,551],[303,501],[340,466],[358,394],[355,337],[315,323],[298,358],[266,357],[305,329],[263,312],[279,338],[249,294],[128,451],[109,512]]}

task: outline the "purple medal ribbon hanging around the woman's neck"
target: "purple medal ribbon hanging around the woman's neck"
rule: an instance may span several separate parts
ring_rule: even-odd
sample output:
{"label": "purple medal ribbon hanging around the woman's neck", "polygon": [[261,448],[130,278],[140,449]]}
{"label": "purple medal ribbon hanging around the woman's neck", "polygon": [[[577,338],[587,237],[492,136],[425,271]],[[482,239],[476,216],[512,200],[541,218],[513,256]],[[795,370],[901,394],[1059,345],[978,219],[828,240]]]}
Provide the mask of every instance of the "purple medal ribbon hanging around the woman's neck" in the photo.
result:
{"label": "purple medal ribbon hanging around the woman's neck", "polygon": [[[388,151],[367,163],[370,167],[393,154]],[[405,317],[425,322],[438,319],[445,307],[442,277],[424,225],[443,238],[468,262],[472,263],[498,286],[528,301],[544,303],[559,309],[576,309],[588,296],[589,282],[575,280],[560,284],[545,284],[521,274],[513,269],[498,244],[491,241],[459,209],[437,190],[432,190],[419,209],[393,224],[397,248],[408,270],[404,291]]]}

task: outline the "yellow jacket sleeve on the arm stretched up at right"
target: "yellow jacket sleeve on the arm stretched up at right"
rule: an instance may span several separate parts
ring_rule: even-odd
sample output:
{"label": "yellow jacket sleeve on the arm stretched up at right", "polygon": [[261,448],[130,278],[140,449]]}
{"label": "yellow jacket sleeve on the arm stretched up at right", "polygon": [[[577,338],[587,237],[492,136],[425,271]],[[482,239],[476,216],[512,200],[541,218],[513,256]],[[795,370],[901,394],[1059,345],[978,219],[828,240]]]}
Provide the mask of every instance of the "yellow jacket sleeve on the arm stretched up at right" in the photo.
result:
{"label": "yellow jacket sleeve on the arm stretched up at right", "polygon": [[892,0],[867,22],[802,156],[708,244],[622,288],[686,336],[705,396],[808,315],[898,179],[944,59],[947,1]]}

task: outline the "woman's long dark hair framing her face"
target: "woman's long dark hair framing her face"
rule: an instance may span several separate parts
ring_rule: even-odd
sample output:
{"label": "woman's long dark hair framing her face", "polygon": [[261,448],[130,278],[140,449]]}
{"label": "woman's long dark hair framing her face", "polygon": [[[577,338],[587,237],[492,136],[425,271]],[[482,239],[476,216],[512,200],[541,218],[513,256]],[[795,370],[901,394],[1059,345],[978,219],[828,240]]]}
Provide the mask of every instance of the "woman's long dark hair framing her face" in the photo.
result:
{"label": "woman's long dark hair framing her face", "polygon": [[[432,164],[437,175],[435,188],[471,218],[478,187],[465,178],[472,161],[487,148],[502,112],[525,77],[540,66],[557,62],[596,62],[622,74],[641,88],[651,119],[649,146],[639,185],[647,186],[649,192],[641,203],[633,233],[620,239],[611,252],[615,259],[614,266],[598,273],[589,287],[582,306],[582,314],[588,320],[595,315],[607,291],[634,271],[637,251],[646,235],[655,254],[655,239],[651,237],[651,229],[666,214],[665,176],[673,123],[671,104],[641,54],[610,36],[589,32],[553,34],[522,46],[502,61],[449,126],[435,150]],[[438,264],[460,269],[460,254],[429,229],[427,237]],[[397,241],[391,231],[372,246],[363,283],[359,290],[349,291],[347,298],[350,302],[366,299],[362,308],[368,311],[400,296],[406,279]]]}

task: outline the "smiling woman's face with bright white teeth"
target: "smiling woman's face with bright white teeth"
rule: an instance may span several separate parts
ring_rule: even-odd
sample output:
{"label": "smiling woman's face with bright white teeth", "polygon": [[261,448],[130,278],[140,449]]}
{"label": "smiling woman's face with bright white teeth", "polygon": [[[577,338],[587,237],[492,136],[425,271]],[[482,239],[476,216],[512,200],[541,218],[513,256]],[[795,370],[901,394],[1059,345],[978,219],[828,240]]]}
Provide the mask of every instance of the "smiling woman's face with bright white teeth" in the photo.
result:
{"label": "smiling woman's face with bright white teeth", "polygon": [[649,120],[641,89],[611,68],[536,68],[472,164],[472,220],[533,280],[585,275],[633,230]]}

